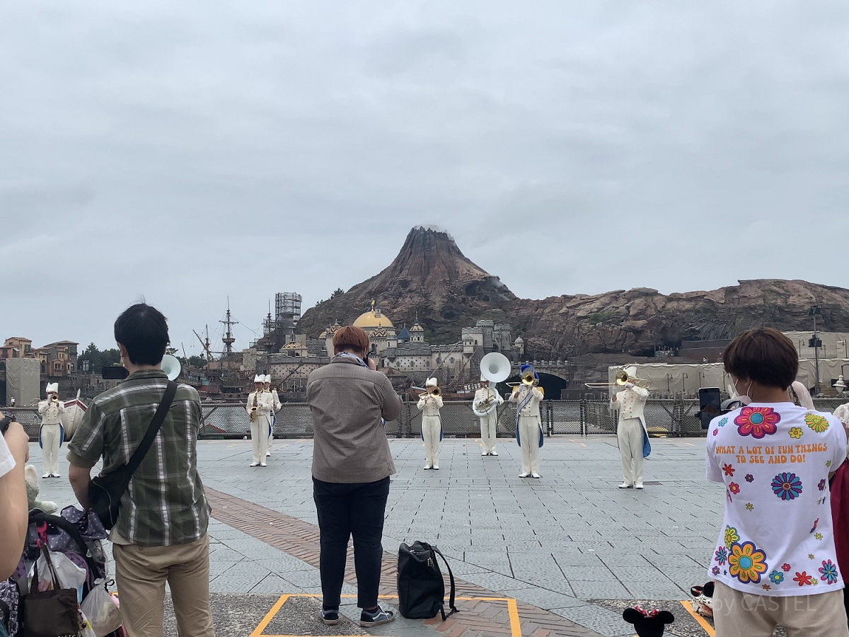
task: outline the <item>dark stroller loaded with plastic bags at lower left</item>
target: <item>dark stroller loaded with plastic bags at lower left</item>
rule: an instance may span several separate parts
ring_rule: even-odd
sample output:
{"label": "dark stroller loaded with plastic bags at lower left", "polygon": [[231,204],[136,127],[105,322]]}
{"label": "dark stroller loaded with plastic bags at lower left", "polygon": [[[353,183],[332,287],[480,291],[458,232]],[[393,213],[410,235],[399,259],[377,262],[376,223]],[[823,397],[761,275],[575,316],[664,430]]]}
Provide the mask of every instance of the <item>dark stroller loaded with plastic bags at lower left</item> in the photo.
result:
{"label": "dark stroller loaded with plastic bags at lower left", "polygon": [[35,627],[38,617],[28,617],[27,609],[33,606],[28,606],[27,596],[50,588],[76,588],[79,629],[72,637],[123,637],[117,600],[108,589],[101,544],[106,532],[97,516],[66,506],[60,516],[33,509],[29,522],[18,569],[0,583],[0,637],[48,637]]}

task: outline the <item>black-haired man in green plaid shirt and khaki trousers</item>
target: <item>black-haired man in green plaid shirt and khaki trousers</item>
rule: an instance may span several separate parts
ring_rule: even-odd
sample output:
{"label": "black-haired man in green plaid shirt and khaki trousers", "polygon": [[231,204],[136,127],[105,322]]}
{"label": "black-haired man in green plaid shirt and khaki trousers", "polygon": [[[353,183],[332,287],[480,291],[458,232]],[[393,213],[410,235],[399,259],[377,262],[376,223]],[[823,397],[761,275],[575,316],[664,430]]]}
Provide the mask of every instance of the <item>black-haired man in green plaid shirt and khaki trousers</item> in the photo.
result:
{"label": "black-haired man in green plaid shirt and khaki trousers", "polygon": [[[168,345],[166,318],[138,303],[115,321],[115,341],[130,372],[94,398],[69,445],[69,478],[87,508],[91,471],[103,458],[107,473],[127,464],[165,394],[160,368]],[[181,635],[214,635],[209,607],[210,507],[197,471],[200,397],[180,385],[153,445],[121,498],[110,533],[121,617],[128,637],[161,637],[165,584]]]}

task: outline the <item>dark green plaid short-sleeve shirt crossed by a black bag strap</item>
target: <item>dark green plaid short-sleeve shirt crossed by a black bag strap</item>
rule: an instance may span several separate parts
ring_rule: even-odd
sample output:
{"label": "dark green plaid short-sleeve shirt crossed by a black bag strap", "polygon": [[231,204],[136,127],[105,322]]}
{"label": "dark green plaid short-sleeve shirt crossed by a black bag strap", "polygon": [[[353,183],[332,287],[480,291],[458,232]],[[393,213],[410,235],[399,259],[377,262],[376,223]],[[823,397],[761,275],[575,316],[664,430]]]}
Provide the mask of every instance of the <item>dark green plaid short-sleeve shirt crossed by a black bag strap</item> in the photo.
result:
{"label": "dark green plaid short-sleeve shirt crossed by a black bag strap", "polygon": [[[135,372],[95,397],[68,445],[71,465],[103,472],[127,464],[142,442],[168,377],[160,369]],[[180,385],[154,443],[121,498],[115,532],[132,544],[169,546],[203,537],[210,507],[197,469],[200,397]]]}

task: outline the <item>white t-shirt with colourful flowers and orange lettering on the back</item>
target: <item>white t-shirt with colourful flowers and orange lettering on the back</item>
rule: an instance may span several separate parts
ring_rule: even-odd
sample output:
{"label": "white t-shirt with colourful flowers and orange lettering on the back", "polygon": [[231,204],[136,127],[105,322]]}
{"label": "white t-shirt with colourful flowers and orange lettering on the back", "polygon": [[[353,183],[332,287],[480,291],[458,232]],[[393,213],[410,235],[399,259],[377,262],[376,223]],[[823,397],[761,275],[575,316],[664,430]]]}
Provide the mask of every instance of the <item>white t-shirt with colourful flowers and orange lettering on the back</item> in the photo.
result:
{"label": "white t-shirt with colourful flowers and orange lettering on the back", "polygon": [[842,589],[829,472],[844,459],[846,432],[831,414],[751,403],[711,420],[707,479],[725,485],[711,579],[755,595]]}

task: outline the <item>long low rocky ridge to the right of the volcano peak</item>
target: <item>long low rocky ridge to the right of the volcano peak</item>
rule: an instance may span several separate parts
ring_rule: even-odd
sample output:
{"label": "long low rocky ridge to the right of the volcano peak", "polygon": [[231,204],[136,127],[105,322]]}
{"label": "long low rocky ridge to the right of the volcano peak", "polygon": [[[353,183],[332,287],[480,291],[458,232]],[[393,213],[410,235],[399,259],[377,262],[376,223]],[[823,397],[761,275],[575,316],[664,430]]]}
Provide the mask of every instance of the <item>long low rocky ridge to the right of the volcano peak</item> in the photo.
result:
{"label": "long low rocky ridge to the right of the volcano peak", "polygon": [[651,356],[655,345],[727,339],[753,327],[811,330],[812,305],[823,309],[819,329],[849,326],[849,290],[780,279],[668,296],[636,288],[523,300],[515,307],[514,326],[526,333],[526,350],[537,358],[589,352]]}

